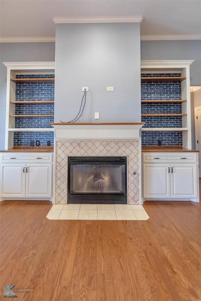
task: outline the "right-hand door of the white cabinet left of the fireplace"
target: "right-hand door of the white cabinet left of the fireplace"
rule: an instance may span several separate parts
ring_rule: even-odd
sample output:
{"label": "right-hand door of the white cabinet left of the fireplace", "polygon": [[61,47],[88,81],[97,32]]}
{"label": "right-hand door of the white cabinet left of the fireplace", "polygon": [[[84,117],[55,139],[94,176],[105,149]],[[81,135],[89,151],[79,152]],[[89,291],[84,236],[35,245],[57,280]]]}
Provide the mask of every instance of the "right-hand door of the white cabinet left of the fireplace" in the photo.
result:
{"label": "right-hand door of the white cabinet left of the fireplace", "polygon": [[26,197],[52,196],[52,164],[26,165]]}

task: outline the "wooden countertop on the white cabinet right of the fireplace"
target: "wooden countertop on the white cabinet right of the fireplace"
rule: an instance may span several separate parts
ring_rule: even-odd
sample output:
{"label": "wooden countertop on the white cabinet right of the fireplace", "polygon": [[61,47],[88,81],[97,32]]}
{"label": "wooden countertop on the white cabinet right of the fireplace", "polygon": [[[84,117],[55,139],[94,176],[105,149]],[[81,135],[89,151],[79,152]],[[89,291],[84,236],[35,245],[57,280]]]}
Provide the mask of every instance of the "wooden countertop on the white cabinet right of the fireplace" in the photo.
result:
{"label": "wooden countertop on the white cabinet right of the fireplace", "polygon": [[161,152],[161,153],[183,153],[199,152],[199,150],[188,150],[187,148],[177,146],[142,146],[142,152]]}

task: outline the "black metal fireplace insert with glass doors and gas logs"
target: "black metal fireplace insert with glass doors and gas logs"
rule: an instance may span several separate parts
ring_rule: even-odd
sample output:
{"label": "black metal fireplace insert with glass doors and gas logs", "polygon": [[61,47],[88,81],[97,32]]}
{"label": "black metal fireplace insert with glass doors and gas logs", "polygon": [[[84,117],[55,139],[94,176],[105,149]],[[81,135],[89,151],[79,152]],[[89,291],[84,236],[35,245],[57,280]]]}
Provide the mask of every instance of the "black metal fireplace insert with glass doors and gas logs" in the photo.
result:
{"label": "black metal fireplace insert with glass doors and gas logs", "polygon": [[69,156],[68,203],[127,203],[126,156]]}

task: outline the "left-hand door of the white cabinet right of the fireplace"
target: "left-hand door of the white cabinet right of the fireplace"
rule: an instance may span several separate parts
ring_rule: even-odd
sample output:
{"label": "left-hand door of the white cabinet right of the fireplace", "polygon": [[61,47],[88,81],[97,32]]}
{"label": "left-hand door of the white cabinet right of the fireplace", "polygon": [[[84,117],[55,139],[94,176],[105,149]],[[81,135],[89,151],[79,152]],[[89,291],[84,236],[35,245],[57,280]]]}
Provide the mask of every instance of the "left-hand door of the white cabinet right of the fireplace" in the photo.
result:
{"label": "left-hand door of the white cabinet right of the fireplace", "polygon": [[144,198],[170,198],[169,164],[143,164]]}

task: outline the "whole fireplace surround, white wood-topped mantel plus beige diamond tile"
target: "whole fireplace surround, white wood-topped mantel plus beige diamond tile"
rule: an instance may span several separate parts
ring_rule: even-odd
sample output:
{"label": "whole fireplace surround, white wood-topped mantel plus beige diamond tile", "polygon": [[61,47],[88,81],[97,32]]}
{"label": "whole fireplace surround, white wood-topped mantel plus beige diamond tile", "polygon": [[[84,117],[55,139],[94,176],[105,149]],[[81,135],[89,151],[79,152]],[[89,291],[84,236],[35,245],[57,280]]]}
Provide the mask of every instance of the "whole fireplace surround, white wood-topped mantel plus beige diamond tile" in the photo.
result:
{"label": "whole fireplace surround, white wood-topped mantel plus beige diamond tile", "polygon": [[139,132],[144,123],[53,123],[52,125],[55,128],[55,204],[68,203],[68,156],[127,156],[128,204],[141,204]]}

